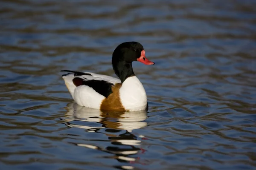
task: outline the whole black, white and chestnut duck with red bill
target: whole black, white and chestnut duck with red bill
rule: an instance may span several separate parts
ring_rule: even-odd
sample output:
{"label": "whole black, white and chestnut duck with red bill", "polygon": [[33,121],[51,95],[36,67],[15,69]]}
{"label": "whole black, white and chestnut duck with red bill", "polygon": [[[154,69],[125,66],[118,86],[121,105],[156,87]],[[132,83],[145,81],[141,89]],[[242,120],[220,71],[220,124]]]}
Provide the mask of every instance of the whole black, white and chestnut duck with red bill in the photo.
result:
{"label": "whole black, white and chestnut duck with red bill", "polygon": [[132,68],[132,62],[136,61],[154,65],[145,57],[139,42],[123,42],[112,54],[113,71],[119,79],[71,70],[61,70],[68,72],[62,78],[78,105],[101,111],[145,111],[148,110],[147,95]]}

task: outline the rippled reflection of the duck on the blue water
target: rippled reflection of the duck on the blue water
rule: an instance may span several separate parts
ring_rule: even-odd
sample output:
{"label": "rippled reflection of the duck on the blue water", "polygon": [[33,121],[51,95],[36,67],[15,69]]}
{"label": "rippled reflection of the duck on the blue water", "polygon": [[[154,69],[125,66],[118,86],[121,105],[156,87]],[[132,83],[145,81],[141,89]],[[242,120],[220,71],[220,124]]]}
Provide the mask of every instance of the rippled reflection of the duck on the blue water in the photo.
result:
{"label": "rippled reflection of the duck on the blue water", "polygon": [[[65,109],[67,110],[65,114],[65,124],[67,126],[83,128],[87,132],[97,132],[105,128],[104,134],[110,139],[110,146],[106,148],[100,148],[90,144],[77,144],[78,146],[113,153],[115,156],[111,156],[111,158],[125,162],[137,162],[137,158],[128,156],[137,154],[140,151],[142,153],[145,152],[140,147],[141,139],[145,139],[144,136],[136,136],[132,133],[132,130],[147,126],[146,122],[142,122],[147,118],[146,111],[102,112],[97,109],[80,106],[75,102],[69,103]],[[100,126],[77,125],[77,121],[96,122],[100,123]],[[93,125],[96,124],[94,123]],[[124,133],[123,130],[125,130]],[[125,167],[133,169],[130,166],[124,166],[122,169],[126,169]]]}

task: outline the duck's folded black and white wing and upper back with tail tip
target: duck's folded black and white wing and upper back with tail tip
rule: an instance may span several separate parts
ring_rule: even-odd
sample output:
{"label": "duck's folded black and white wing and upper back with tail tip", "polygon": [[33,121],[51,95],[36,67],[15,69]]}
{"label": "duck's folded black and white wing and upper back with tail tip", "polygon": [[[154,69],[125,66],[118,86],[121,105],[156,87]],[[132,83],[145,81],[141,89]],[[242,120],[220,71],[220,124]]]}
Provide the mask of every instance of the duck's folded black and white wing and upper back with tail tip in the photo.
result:
{"label": "duck's folded black and white wing and upper back with tail tip", "polygon": [[[114,77],[105,76],[101,74],[94,74],[90,72],[83,73],[79,71],[69,71],[69,70],[63,70],[63,71],[68,71],[73,73],[73,78],[72,78],[73,83],[71,83],[69,80],[69,84],[73,84],[75,85],[75,87],[78,87],[81,85],[87,85],[90,88],[93,88],[93,90],[95,90],[97,93],[105,97],[108,97],[112,93],[113,85],[121,82],[120,79],[116,79]],[[69,74],[64,74],[62,77],[63,78],[67,77],[67,75]]]}

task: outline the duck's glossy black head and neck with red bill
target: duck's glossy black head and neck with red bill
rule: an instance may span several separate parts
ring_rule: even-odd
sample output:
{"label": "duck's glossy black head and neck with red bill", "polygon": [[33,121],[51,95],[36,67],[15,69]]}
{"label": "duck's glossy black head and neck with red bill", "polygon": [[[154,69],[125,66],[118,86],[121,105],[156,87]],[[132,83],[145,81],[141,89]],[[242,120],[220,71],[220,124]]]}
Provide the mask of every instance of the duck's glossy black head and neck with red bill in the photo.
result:
{"label": "duck's glossy black head and neck with red bill", "polygon": [[145,57],[143,46],[139,42],[123,42],[118,45],[112,55],[112,65],[115,74],[123,82],[126,78],[134,76],[131,62],[139,61],[146,65],[154,62]]}

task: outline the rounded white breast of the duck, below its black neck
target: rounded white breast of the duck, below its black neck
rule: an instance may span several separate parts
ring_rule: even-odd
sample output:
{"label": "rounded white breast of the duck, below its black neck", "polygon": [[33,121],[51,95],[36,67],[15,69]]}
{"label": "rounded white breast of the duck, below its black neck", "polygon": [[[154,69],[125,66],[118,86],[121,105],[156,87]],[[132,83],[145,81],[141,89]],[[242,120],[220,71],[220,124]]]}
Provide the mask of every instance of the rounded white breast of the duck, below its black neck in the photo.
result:
{"label": "rounded white breast of the duck, below its black neck", "polygon": [[140,80],[128,77],[119,90],[120,99],[125,109],[129,111],[143,111],[147,107],[147,95]]}

